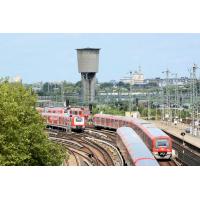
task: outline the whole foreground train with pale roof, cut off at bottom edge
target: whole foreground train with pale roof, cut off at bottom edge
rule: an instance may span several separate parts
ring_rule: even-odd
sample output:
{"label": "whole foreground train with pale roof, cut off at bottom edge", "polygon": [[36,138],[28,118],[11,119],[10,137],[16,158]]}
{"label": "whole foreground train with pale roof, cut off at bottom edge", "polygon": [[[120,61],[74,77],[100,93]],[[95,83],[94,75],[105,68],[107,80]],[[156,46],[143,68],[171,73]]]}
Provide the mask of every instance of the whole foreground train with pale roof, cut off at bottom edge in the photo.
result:
{"label": "whole foreground train with pale roof, cut off at bottom edge", "polygon": [[128,166],[159,166],[151,151],[129,127],[117,129],[116,144]]}

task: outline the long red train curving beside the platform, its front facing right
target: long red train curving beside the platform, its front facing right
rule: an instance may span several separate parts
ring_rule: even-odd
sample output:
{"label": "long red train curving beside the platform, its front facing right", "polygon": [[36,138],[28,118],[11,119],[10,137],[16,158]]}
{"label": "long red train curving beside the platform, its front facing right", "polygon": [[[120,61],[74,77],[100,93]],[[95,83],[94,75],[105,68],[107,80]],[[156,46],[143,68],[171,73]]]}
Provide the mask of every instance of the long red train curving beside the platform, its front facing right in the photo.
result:
{"label": "long red train curving beside the platform, its front facing right", "polygon": [[117,129],[122,126],[131,127],[140,136],[156,159],[170,159],[172,156],[171,138],[148,121],[105,114],[94,115],[93,121],[96,128]]}

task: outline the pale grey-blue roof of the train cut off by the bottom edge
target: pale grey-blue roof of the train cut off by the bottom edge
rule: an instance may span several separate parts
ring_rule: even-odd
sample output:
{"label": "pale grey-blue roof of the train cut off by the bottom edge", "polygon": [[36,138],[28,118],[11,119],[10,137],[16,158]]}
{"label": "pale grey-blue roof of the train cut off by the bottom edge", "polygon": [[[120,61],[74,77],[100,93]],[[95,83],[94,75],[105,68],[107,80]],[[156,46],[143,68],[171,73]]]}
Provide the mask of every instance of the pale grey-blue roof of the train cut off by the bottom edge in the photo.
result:
{"label": "pale grey-blue roof of the train cut off by the bottom edge", "polygon": [[121,127],[117,129],[117,134],[127,148],[135,165],[159,165],[150,150],[133,129]]}

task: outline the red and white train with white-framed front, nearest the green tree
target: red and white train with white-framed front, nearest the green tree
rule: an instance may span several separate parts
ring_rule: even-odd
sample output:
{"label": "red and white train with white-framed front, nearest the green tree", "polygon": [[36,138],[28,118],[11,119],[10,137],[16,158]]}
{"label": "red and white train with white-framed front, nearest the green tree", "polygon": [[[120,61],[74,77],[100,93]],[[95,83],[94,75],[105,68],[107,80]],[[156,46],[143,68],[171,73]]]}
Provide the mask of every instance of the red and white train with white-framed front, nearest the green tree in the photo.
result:
{"label": "red and white train with white-framed front, nearest the green tree", "polygon": [[42,117],[48,127],[61,130],[73,130],[83,132],[85,129],[85,118],[57,113],[42,113]]}

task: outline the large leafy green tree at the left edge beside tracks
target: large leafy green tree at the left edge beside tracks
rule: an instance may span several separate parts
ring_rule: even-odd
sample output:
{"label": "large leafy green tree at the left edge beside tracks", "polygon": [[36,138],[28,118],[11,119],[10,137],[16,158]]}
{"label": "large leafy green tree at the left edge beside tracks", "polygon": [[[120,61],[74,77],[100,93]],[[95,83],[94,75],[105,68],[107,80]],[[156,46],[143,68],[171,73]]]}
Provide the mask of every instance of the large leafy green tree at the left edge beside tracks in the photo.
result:
{"label": "large leafy green tree at the left edge beside tracks", "polygon": [[67,153],[48,140],[36,96],[22,84],[0,84],[0,165],[61,165]]}

